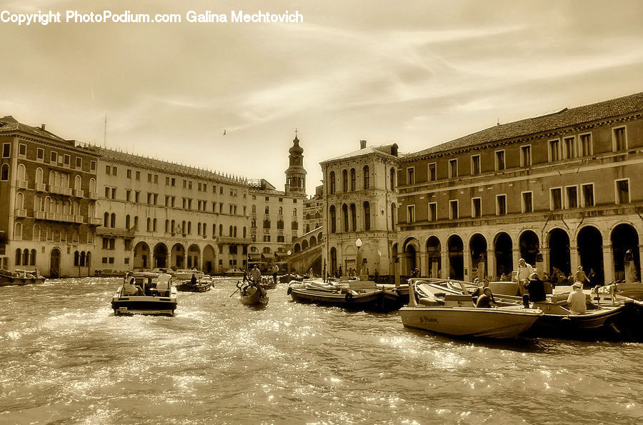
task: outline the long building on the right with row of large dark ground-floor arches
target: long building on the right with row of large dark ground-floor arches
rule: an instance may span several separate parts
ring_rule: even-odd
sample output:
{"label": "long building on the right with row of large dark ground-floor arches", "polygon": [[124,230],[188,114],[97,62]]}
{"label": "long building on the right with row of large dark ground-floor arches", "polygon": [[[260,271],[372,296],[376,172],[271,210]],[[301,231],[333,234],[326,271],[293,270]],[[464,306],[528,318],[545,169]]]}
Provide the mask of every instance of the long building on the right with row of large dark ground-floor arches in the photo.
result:
{"label": "long building on the right with row of large dark ground-floor arches", "polygon": [[[399,161],[402,274],[624,276],[643,244],[643,93],[493,126]],[[637,177],[638,176],[638,177]]]}

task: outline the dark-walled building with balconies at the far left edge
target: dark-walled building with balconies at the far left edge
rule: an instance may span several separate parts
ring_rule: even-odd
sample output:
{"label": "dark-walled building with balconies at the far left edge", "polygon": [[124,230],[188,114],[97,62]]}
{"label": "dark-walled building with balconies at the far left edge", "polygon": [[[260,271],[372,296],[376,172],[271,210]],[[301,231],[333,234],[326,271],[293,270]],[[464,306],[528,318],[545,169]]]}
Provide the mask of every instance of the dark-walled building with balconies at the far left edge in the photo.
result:
{"label": "dark-walled building with balconies at the far left edge", "polygon": [[0,264],[86,276],[96,264],[98,154],[45,125],[0,118]]}

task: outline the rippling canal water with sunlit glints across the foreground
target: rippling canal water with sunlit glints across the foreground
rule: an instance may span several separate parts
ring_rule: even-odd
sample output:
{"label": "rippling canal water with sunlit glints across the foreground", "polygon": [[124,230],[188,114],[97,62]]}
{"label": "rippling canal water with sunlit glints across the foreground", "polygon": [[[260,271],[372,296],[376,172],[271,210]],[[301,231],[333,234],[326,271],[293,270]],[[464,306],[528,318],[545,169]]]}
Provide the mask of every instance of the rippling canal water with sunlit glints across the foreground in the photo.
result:
{"label": "rippling canal water with sunlit glints across the foreground", "polygon": [[120,279],[0,287],[1,424],[635,424],[643,344],[454,341],[236,281],[115,317]]}

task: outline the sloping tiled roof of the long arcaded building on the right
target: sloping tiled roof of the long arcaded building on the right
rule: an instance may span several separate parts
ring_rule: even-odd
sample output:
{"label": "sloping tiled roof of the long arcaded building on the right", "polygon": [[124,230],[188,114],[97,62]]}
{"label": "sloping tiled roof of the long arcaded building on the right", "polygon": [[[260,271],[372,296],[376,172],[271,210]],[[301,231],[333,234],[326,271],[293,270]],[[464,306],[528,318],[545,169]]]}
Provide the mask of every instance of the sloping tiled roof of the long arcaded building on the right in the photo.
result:
{"label": "sloping tiled roof of the long arcaded building on the right", "polygon": [[490,143],[492,141],[514,139],[520,136],[538,134],[544,131],[552,131],[562,129],[564,127],[577,126],[579,124],[587,124],[592,121],[599,121],[627,114],[635,114],[637,112],[643,112],[643,92],[598,102],[596,104],[578,106],[577,108],[565,108],[553,114],[536,116],[534,118],[522,119],[520,121],[489,127],[489,129],[484,129],[477,133],[469,134],[467,136],[460,137],[459,139],[454,139],[452,141],[447,141],[446,143],[433,146],[429,149],[408,154],[404,159],[467,148],[469,146]]}

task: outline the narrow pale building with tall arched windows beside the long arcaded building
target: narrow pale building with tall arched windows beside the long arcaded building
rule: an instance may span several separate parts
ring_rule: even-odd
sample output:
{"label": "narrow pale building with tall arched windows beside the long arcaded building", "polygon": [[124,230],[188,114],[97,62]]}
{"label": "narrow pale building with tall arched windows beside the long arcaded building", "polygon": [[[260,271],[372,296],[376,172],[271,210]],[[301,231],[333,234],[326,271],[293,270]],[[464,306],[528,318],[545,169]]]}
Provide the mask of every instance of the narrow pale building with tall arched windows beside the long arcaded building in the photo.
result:
{"label": "narrow pale building with tall arched windows beside the long arcaded building", "polygon": [[393,274],[397,155],[397,144],[371,147],[360,141],[359,150],[321,162],[327,218],[322,258],[329,274],[339,274],[340,267],[342,274]]}

